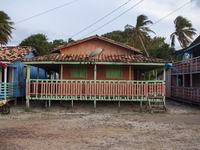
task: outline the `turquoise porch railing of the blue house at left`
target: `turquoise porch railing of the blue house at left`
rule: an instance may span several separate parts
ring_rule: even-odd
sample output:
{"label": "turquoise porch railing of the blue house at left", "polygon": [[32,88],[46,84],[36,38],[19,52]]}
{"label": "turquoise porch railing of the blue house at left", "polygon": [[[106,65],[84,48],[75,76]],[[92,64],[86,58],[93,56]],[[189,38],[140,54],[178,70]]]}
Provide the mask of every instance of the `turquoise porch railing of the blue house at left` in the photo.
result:
{"label": "turquoise porch railing of the blue house at left", "polygon": [[0,82],[0,99],[7,99],[8,97],[16,97],[16,96],[17,96],[16,83]]}

